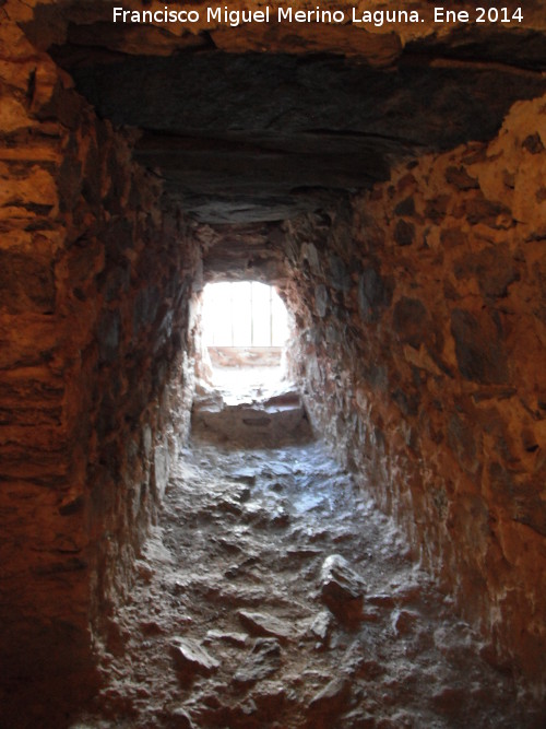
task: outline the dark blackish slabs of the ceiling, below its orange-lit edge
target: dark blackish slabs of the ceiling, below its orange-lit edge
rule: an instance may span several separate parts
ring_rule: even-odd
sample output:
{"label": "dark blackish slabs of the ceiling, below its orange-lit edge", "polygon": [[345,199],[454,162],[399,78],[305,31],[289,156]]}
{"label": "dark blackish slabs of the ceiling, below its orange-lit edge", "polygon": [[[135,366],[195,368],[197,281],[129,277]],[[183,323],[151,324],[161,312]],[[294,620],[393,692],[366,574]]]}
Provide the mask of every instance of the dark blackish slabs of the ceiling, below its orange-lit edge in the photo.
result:
{"label": "dark blackish slabs of the ceiling, below its orange-lit edge", "polygon": [[490,139],[514,101],[546,91],[544,36],[517,43],[515,31],[489,44],[410,44],[387,68],[210,44],[128,55],[93,37],[87,27],[79,45],[69,34],[50,52],[100,117],[142,131],[135,158],[210,223],[320,208],[388,179],[396,161]]}

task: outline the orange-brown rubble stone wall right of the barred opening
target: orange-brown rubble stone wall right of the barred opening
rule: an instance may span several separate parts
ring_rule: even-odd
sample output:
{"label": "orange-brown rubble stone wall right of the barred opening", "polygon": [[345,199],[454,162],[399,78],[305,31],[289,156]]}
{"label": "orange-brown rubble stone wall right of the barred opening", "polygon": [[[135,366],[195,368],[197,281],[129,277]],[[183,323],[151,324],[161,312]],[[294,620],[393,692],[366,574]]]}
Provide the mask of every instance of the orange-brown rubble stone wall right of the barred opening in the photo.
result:
{"label": "orange-brown rubble stone wall right of the barred opening", "polygon": [[[286,226],[307,407],[426,568],[544,666],[546,99]],[[304,305],[307,303],[307,306]]]}

